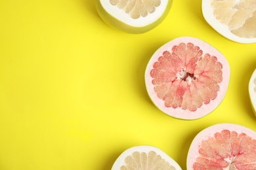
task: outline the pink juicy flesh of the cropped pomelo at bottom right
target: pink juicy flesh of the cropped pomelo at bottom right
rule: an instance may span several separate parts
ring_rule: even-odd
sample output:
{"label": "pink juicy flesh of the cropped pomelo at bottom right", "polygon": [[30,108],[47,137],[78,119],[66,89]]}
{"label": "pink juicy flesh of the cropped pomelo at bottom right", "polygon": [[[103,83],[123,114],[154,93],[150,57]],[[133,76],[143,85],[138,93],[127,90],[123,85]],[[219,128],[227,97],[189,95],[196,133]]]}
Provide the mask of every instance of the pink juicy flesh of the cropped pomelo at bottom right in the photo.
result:
{"label": "pink juicy flesh of the cropped pomelo at bottom right", "polygon": [[[256,140],[245,133],[223,130],[202,141],[194,169],[230,167],[230,169],[256,169]],[[255,163],[251,163],[255,162]]]}

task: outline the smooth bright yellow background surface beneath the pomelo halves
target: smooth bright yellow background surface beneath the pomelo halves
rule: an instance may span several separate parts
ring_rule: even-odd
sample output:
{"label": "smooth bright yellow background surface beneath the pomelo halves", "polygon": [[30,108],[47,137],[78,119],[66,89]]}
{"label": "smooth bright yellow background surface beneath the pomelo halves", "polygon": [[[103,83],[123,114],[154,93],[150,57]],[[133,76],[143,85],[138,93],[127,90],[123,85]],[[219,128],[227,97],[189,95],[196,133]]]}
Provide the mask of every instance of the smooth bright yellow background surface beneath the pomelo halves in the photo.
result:
{"label": "smooth bright yellow background surface beneath the pomelo halves", "polygon": [[[231,69],[223,103],[200,120],[158,110],[144,84],[152,54],[176,37],[203,39]],[[93,0],[0,1],[0,169],[111,169],[131,146],[150,144],[186,169],[194,136],[228,122],[256,130],[248,82],[256,44],[219,35],[201,1],[175,0],[148,33],[112,29]]]}

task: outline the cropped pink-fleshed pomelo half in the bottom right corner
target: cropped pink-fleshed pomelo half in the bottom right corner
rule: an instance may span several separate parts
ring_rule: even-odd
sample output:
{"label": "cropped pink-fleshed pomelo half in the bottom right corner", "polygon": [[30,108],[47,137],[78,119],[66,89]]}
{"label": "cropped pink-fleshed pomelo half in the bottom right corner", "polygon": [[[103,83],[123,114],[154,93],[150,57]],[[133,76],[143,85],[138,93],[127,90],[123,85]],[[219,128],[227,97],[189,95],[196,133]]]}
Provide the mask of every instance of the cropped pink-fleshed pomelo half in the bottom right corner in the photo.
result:
{"label": "cropped pink-fleshed pomelo half in the bottom right corner", "polygon": [[187,169],[256,169],[256,132],[237,124],[203,129],[190,145]]}

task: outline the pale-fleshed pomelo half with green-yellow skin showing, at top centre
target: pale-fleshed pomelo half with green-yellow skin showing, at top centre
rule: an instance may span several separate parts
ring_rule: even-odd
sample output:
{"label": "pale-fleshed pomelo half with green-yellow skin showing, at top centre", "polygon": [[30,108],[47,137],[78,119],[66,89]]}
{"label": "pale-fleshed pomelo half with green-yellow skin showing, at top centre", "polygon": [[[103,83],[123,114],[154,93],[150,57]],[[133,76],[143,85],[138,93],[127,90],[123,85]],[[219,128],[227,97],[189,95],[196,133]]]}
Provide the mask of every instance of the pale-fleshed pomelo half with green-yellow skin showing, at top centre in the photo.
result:
{"label": "pale-fleshed pomelo half with green-yellow skin showing, at top centre", "polygon": [[108,25],[127,33],[145,33],[159,25],[173,0],[96,0],[98,14]]}

